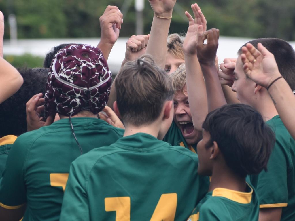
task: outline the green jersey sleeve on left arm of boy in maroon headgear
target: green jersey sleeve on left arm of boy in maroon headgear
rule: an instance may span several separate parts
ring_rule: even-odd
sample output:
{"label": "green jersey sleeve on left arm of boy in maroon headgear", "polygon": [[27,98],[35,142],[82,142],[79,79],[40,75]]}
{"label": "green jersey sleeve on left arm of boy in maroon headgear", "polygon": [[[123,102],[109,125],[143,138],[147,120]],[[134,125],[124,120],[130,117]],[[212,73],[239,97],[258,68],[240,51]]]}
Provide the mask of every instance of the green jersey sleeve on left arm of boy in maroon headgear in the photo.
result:
{"label": "green jersey sleeve on left arm of boy in maroon headgear", "polygon": [[0,206],[5,209],[18,209],[27,202],[24,165],[28,145],[28,139],[20,136],[10,149],[0,184]]}

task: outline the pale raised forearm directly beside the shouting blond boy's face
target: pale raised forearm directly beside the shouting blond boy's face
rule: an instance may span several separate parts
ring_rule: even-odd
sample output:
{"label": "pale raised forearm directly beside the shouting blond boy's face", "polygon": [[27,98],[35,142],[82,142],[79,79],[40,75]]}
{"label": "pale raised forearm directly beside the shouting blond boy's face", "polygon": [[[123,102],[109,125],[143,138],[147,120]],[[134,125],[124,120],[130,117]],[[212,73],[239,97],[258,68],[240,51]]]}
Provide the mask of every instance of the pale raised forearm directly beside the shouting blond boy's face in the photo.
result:
{"label": "pale raised forearm directly beside the shouting blond boy's face", "polygon": [[208,114],[207,92],[201,66],[196,55],[185,54],[186,87],[194,127],[201,131]]}

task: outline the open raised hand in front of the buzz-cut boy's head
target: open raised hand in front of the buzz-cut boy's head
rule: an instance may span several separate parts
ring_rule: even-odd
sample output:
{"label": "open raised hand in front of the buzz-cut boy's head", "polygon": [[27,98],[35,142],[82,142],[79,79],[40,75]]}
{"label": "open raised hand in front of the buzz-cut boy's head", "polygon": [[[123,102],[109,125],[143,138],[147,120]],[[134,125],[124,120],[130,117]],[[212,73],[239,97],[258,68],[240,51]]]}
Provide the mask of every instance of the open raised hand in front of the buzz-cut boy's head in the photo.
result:
{"label": "open raised hand in front of the buzz-cut boy's head", "polygon": [[243,69],[247,77],[267,88],[273,80],[281,76],[274,55],[261,43],[258,50],[250,43],[242,47]]}

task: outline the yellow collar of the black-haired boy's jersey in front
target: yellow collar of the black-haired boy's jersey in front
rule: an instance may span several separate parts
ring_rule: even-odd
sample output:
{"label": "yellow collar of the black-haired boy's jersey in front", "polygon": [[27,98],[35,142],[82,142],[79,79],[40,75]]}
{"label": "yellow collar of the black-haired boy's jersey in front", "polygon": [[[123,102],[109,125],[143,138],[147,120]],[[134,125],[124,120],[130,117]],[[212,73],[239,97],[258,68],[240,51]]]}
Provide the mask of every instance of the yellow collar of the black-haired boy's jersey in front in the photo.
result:
{"label": "yellow collar of the black-haired boy's jersey in front", "polygon": [[[250,185],[247,183],[248,187]],[[231,189],[216,188],[212,192],[213,197],[225,197],[232,201],[247,204],[251,202],[253,189],[250,187],[251,192],[239,192]]]}

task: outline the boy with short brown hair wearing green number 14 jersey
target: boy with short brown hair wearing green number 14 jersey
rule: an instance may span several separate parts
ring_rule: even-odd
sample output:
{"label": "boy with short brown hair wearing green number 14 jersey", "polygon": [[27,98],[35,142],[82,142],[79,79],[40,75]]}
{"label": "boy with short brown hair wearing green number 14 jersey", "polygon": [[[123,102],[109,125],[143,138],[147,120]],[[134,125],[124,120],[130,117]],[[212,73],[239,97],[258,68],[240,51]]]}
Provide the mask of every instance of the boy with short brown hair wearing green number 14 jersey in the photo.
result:
{"label": "boy with short brown hair wearing green number 14 jersey", "polygon": [[173,120],[171,78],[140,58],[121,69],[116,93],[124,137],[72,163],[60,220],[185,220],[209,177],[196,154],[160,140]]}

